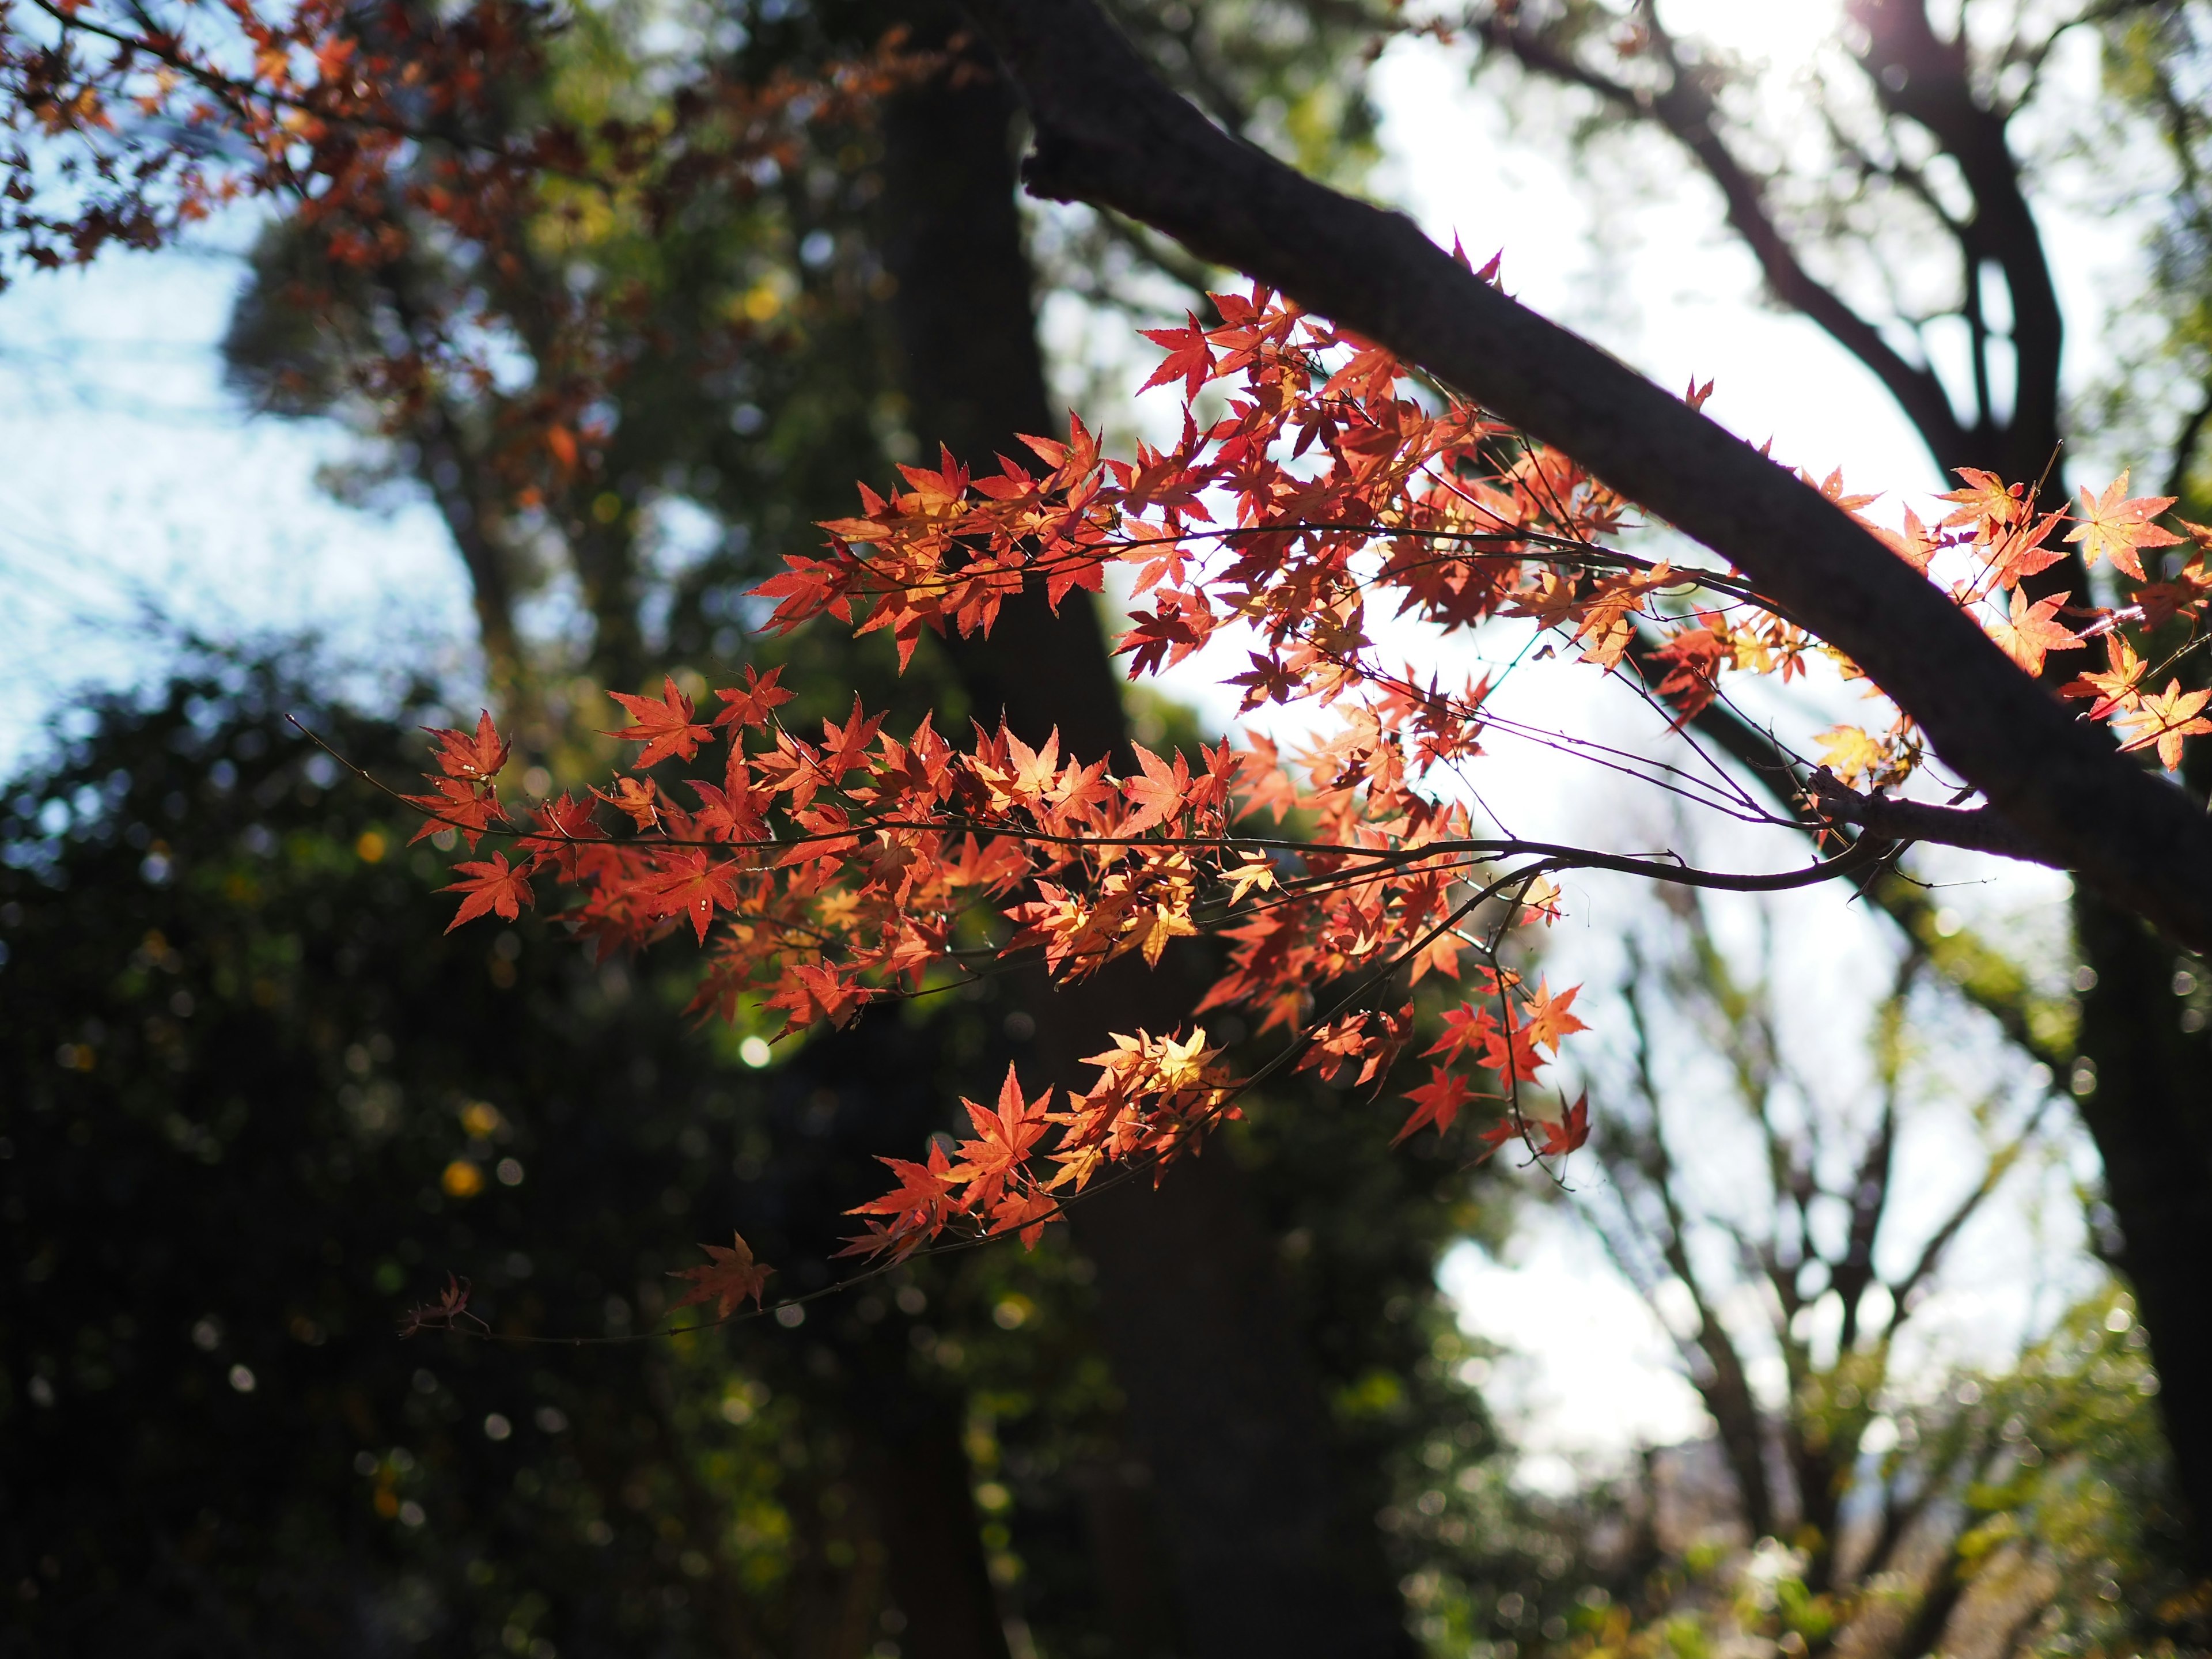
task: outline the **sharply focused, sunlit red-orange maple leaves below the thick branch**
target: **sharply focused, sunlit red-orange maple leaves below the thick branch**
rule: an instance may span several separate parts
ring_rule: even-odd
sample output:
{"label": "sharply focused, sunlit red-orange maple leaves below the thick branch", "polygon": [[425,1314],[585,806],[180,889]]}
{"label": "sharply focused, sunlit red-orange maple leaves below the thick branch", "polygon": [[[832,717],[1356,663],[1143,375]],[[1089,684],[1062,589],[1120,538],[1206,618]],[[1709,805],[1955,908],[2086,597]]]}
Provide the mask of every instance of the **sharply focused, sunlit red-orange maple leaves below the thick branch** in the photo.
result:
{"label": "sharply focused, sunlit red-orange maple leaves below the thick branch", "polygon": [[[1478,834],[1451,781],[1482,754],[1491,681],[1447,688],[1394,668],[1371,617],[1413,617],[1436,635],[1524,619],[1624,677],[1646,628],[1666,670],[1648,690],[1677,728],[1728,675],[1790,679],[1809,657],[1834,657],[1736,573],[1626,551],[1624,507],[1597,480],[1418,385],[1391,354],[1267,290],[1214,303],[1217,327],[1150,332],[1168,356],[1148,385],[1183,392],[1177,442],[1117,460],[1071,420],[1066,442],[1026,438],[1029,460],[1000,458],[995,471],[951,456],[905,467],[902,491],[863,487],[863,511],[823,526],[821,555],[787,560],[759,593],[776,602],[774,630],[827,613],[863,635],[889,630],[907,661],[922,630],[987,633],[1031,584],[1057,606],[1119,571],[1130,675],[1234,630],[1250,659],[1234,681],[1245,710],[1314,703],[1334,721],[1294,757],[1248,732],[1241,748],[1197,757],[1130,745],[1133,765],[1117,772],[1113,757],[1064,757],[1057,734],[1031,748],[978,728],[956,743],[922,719],[894,737],[858,701],[814,739],[779,719],[790,701],[779,675],[748,670],[712,710],[675,681],[657,699],[617,692],[633,721],[619,737],[639,752],[606,790],[509,814],[493,783],[507,745],[487,717],[473,734],[438,732],[434,790],[411,796],[425,834],[449,825],[471,847],[511,836],[513,858],[493,849],[460,865],[456,925],[511,918],[551,880],[573,898],[568,925],[602,951],[688,927],[706,949],[697,1006],[723,1018],[752,1004],[790,1029],[843,1024],[1009,958],[1033,956],[1066,984],[1130,953],[1157,962],[1177,938],[1225,940],[1225,969],[1192,1020],[1241,1009],[1259,1033],[1281,1033],[1259,1073],[1230,1075],[1203,1024],[1113,1035],[1088,1062],[1091,1086],[1064,1097],[1031,1095],[1009,1071],[995,1104],[967,1102],[971,1135],[922,1161],[885,1159],[896,1186],[856,1212],[854,1254],[898,1259],[951,1228],[1033,1241],[1104,1170],[1157,1170],[1276,1068],[1378,1084],[1413,1040],[1413,987],[1431,973],[1458,991],[1398,1137],[1449,1135],[1482,1099],[1498,1108],[1480,1130],[1491,1150],[1522,1139],[1535,1157],[1573,1152],[1590,1130],[1586,1097],[1540,1106],[1535,1086],[1584,1029],[1575,989],[1531,987],[1500,945],[1557,916],[1553,872],[1606,856]],[[2121,480],[2066,515],[1982,473],[1964,484],[1933,529],[1907,513],[1878,533],[1949,577],[2028,672],[2106,635],[2108,672],[2068,695],[2119,721],[2130,748],[2177,763],[2183,739],[2212,730],[2205,695],[2146,690],[2121,628],[2201,615],[2212,533],[2185,526],[2199,551],[2152,580],[2141,555],[2183,540],[2157,524],[2170,502],[2128,500]],[[1838,478],[1825,493],[1851,513],[1871,502]],[[2126,608],[2022,595],[2062,557],[2064,522],[2090,562],[2135,582]],[[1902,719],[1882,739],[1856,732],[1858,748],[1851,730],[1823,739],[1845,783],[1893,783],[1918,763]],[[757,1296],[761,1274],[750,1254],[717,1259],[695,1270],[692,1298]]]}

